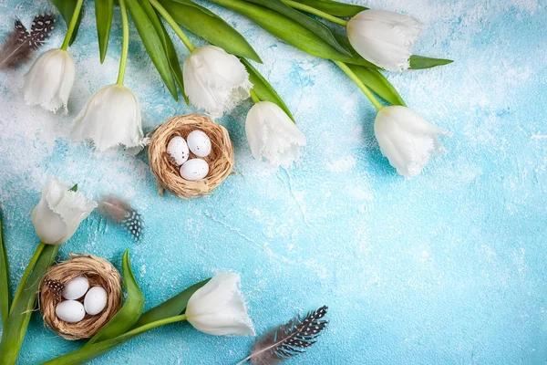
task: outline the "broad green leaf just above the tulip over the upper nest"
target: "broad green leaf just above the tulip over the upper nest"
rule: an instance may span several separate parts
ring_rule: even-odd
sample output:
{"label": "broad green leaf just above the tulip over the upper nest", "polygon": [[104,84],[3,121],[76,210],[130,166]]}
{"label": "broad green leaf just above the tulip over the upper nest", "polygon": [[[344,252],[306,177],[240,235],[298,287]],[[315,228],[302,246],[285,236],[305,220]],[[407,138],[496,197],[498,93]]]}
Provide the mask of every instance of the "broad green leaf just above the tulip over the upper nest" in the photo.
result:
{"label": "broad green leaf just above the tulip over the upper nest", "polygon": [[192,33],[203,37],[214,46],[240,57],[247,57],[262,63],[258,54],[247,40],[220,16],[190,0],[160,0],[177,23]]}

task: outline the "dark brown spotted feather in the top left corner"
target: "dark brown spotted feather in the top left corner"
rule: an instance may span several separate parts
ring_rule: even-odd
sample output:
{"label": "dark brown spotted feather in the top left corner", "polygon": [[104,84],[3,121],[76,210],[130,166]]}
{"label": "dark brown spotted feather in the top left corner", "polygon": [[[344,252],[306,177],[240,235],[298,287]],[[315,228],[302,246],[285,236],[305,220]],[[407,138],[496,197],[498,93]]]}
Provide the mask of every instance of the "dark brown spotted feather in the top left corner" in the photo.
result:
{"label": "dark brown spotted feather in the top left corner", "polygon": [[35,16],[29,33],[23,23],[15,19],[14,31],[7,36],[4,46],[0,49],[0,68],[14,67],[27,61],[51,35],[55,22],[55,17],[50,14]]}

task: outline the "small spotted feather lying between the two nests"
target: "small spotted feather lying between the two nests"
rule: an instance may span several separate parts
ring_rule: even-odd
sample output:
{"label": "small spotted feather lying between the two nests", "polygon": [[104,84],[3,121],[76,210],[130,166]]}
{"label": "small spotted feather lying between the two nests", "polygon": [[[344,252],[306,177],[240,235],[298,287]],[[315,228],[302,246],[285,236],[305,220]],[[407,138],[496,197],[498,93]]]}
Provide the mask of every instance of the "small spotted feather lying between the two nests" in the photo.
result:
{"label": "small spotted feather lying between the two nests", "polygon": [[142,216],[125,200],[107,195],[98,202],[98,212],[114,223],[121,224],[138,242],[142,236]]}

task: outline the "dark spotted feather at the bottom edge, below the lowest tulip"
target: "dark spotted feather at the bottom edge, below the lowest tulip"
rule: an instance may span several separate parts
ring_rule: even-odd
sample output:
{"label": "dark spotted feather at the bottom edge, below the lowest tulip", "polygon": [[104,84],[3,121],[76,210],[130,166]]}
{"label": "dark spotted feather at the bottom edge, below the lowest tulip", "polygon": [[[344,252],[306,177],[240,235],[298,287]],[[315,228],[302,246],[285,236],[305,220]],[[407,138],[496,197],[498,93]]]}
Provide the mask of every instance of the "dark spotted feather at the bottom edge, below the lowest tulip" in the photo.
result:
{"label": "dark spotted feather at the bottom edge, below the lowest tulip", "polygon": [[326,306],[311,311],[305,318],[296,316],[283,326],[274,328],[258,339],[253,352],[240,364],[251,360],[257,365],[271,365],[303,353],[316,342],[317,336],[325,329]]}

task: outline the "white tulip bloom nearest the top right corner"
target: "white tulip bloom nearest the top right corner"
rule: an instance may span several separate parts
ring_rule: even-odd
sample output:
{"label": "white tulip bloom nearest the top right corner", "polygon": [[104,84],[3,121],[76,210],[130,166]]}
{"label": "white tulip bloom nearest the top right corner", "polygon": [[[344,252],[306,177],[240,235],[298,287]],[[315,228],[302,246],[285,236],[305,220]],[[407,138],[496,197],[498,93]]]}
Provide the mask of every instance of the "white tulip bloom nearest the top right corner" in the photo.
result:
{"label": "white tulip bloom nearest the top right corner", "polygon": [[421,29],[412,16],[364,10],[347,23],[347,36],[351,46],[366,60],[389,71],[401,71],[410,67],[412,47]]}

